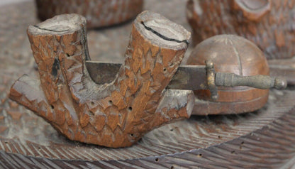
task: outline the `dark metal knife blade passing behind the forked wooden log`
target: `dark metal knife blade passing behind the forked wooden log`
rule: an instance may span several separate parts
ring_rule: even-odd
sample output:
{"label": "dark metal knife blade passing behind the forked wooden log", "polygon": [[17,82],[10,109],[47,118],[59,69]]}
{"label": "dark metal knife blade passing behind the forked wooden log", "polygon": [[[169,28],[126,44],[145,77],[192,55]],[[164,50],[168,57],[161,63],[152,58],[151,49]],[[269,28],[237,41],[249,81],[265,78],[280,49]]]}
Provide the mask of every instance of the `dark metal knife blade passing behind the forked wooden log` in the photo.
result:
{"label": "dark metal knife blade passing behind the forked wooden log", "polygon": [[[110,83],[115,80],[121,63],[86,61],[87,70],[97,84]],[[203,65],[179,66],[167,89],[208,89],[206,68]]]}

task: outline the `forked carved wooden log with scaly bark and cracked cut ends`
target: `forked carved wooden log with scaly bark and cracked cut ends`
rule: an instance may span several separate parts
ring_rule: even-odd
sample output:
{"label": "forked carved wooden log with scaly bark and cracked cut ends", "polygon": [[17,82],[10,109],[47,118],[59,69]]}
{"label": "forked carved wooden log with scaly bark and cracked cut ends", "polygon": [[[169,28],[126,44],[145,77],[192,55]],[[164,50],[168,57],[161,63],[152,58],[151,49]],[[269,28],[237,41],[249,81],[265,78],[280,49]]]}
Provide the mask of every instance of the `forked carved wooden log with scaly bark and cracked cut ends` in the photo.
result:
{"label": "forked carved wooden log with scaly bark and cracked cut ends", "polygon": [[141,13],[116,79],[96,84],[85,67],[90,58],[86,19],[77,14],[55,16],[28,28],[40,81],[23,75],[11,87],[10,98],[71,140],[131,146],[144,133],[190,116],[193,92],[165,90],[190,36],[157,13]]}

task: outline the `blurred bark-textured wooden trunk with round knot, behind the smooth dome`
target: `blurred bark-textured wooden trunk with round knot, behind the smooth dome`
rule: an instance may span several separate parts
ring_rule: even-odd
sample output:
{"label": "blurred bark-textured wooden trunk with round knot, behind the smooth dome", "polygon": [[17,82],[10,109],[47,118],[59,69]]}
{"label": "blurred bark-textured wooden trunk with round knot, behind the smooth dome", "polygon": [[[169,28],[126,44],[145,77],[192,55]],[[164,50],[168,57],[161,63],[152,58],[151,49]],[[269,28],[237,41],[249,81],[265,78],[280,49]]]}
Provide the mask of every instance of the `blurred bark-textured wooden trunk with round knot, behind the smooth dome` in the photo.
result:
{"label": "blurred bark-textured wooden trunk with round knot, behind the smooth dome", "polygon": [[295,55],[295,1],[225,0],[187,3],[193,42],[220,34],[243,36],[255,43],[267,59]]}

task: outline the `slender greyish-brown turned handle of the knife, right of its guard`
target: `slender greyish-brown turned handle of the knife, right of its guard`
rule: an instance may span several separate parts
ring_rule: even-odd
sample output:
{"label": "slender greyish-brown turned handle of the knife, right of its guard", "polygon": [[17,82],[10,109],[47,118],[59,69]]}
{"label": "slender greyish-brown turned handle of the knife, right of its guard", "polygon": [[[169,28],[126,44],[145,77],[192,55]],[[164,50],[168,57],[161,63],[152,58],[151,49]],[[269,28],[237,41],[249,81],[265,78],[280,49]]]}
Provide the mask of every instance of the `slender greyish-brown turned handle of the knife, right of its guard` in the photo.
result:
{"label": "slender greyish-brown turned handle of the knife, right of its guard", "polygon": [[216,72],[216,85],[224,87],[249,86],[258,89],[284,89],[287,82],[282,77],[267,75],[240,76],[234,73]]}

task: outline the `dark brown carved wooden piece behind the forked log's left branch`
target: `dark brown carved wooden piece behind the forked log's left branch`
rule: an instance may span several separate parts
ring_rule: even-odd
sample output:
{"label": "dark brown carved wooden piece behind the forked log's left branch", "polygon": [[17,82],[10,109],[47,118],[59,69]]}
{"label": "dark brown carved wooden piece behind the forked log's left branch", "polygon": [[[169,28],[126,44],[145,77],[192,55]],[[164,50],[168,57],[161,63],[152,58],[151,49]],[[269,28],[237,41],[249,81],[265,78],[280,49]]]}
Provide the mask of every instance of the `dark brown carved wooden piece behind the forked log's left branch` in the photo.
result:
{"label": "dark brown carved wooden piece behind the forked log's left branch", "polygon": [[89,28],[111,26],[135,18],[143,10],[143,0],[36,0],[41,20],[64,13],[87,18]]}

